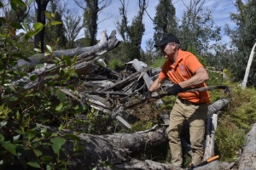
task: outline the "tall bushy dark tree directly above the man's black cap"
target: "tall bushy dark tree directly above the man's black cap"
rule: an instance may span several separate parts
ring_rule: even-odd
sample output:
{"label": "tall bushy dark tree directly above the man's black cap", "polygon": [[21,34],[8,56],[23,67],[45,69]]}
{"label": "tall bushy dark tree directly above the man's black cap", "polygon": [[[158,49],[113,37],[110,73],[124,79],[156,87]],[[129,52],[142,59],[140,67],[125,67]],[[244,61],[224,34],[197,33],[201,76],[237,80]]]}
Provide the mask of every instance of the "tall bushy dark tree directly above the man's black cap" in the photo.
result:
{"label": "tall bushy dark tree directly above the man's black cap", "polygon": [[160,0],[154,16],[154,41],[159,41],[163,34],[177,33],[177,21],[172,0]]}

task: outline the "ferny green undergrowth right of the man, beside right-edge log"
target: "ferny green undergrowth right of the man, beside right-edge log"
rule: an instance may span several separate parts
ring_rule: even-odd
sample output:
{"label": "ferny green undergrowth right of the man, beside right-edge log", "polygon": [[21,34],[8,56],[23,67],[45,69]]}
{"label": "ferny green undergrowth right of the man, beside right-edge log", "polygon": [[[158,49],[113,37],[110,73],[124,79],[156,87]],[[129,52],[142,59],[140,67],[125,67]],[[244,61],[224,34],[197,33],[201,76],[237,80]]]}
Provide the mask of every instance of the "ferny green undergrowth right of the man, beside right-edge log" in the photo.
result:
{"label": "ferny green undergrowth right of the man, beside right-edge log", "polygon": [[256,90],[230,85],[231,99],[228,108],[218,118],[216,151],[222,161],[235,161],[242,149],[245,136],[256,120]]}

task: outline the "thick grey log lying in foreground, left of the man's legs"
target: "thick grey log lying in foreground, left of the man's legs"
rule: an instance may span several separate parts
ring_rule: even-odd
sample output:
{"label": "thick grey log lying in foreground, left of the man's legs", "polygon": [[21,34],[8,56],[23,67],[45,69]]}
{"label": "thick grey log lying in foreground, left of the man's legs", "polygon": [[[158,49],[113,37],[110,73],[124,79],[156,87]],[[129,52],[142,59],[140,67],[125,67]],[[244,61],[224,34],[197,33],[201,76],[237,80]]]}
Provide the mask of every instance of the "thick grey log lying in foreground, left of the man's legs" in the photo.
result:
{"label": "thick grey log lying in foreground, left of the man's legs", "polygon": [[[45,127],[48,132],[57,132],[56,127]],[[63,145],[72,156],[73,165],[70,169],[89,169],[97,167],[102,161],[110,161],[113,165],[122,165],[129,163],[132,158],[131,154],[142,152],[143,150],[152,149],[159,144],[166,143],[164,129],[153,128],[146,132],[137,133],[113,133],[108,135],[92,135],[79,133],[78,144],[83,147],[78,153],[73,153],[73,139],[70,139]],[[61,136],[73,134],[68,130],[62,130]],[[103,168],[103,167],[102,167]]]}

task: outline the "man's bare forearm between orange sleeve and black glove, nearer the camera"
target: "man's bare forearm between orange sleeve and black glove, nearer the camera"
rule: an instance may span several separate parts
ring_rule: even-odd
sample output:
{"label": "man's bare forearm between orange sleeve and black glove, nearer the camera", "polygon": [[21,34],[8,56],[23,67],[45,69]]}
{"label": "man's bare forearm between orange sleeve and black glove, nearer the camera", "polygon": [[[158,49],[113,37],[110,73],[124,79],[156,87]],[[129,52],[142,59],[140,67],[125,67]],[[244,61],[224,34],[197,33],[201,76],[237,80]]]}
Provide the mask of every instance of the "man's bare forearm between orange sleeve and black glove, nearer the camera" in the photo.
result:
{"label": "man's bare forearm between orange sleeve and black glove, nearer the camera", "polygon": [[195,86],[197,84],[201,84],[202,82],[207,82],[209,80],[209,76],[207,70],[204,67],[200,67],[195,71],[195,75],[184,82],[179,82],[181,88],[189,88],[191,86]]}

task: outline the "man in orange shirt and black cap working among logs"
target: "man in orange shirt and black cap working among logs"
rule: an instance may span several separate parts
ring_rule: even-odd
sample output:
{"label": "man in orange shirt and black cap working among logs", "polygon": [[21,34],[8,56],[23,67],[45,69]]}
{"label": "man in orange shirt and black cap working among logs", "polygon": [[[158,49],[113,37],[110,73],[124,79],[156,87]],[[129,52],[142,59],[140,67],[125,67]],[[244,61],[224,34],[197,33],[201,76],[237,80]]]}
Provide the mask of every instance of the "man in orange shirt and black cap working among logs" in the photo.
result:
{"label": "man in orange shirt and black cap working among logs", "polygon": [[182,167],[183,156],[180,140],[183,122],[189,123],[189,138],[193,152],[192,164],[201,163],[203,157],[203,139],[207,120],[207,105],[210,102],[208,91],[184,92],[183,88],[206,87],[208,74],[200,61],[191,54],[180,49],[180,42],[173,34],[166,34],[154,47],[160,47],[166,58],[160,76],[153,82],[143,99],[148,99],[157,91],[167,78],[174,85],[167,89],[167,94],[177,95],[175,105],[170,114],[168,139],[172,155],[172,165]]}

